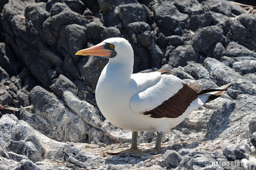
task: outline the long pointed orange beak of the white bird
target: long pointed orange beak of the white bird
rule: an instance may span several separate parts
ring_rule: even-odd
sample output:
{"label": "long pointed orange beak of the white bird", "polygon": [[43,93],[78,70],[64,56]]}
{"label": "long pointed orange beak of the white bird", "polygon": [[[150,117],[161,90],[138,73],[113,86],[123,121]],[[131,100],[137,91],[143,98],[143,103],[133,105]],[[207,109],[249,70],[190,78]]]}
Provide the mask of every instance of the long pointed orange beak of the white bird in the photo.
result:
{"label": "long pointed orange beak of the white bird", "polygon": [[93,47],[86,48],[83,50],[80,50],[76,53],[76,55],[82,55],[82,56],[105,56],[105,57],[110,57],[111,55],[111,50],[105,49],[105,43],[99,43],[97,45],[94,45]]}

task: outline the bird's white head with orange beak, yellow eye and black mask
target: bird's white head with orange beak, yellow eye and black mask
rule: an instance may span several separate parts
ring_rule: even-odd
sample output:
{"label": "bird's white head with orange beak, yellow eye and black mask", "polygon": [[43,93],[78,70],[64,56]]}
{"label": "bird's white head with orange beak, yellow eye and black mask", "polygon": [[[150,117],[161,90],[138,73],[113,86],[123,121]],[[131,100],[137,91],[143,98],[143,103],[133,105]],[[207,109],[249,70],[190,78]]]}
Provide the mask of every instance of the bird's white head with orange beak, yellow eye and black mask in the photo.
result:
{"label": "bird's white head with orange beak, yellow eye and black mask", "polygon": [[93,47],[78,51],[76,55],[104,56],[116,62],[133,63],[134,60],[131,44],[121,37],[108,38]]}

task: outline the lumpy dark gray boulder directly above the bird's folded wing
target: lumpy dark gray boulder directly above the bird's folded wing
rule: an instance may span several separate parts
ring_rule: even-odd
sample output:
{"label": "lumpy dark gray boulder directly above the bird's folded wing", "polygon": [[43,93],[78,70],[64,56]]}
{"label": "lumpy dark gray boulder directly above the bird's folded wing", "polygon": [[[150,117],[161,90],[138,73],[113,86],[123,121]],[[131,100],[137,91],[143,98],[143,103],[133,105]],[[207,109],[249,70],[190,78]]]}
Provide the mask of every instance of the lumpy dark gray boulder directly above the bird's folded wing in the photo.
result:
{"label": "lumpy dark gray boulder directly above the bird's folded wing", "polygon": [[198,62],[199,54],[191,45],[180,45],[170,54],[169,64],[178,67],[186,66],[187,62]]}

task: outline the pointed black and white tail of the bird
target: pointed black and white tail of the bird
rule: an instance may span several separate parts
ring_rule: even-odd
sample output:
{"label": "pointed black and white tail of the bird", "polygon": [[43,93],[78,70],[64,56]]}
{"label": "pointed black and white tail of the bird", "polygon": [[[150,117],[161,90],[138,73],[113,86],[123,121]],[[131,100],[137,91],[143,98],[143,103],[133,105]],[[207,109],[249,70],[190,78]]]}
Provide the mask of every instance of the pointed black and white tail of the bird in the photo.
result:
{"label": "pointed black and white tail of the bird", "polygon": [[198,97],[201,99],[203,103],[210,102],[214,99],[217,99],[219,96],[227,91],[226,89],[232,84],[232,82],[228,83],[227,85],[223,85],[216,89],[205,89],[198,92]]}

